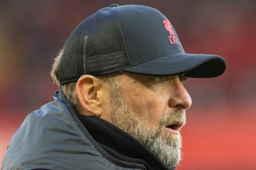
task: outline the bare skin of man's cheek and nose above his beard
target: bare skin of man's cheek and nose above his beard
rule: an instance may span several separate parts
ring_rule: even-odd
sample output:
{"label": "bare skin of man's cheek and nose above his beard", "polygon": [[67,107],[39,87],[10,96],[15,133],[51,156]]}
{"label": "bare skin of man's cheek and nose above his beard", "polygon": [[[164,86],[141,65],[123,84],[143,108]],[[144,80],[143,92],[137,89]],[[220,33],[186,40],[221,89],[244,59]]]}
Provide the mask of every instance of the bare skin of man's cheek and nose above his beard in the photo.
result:
{"label": "bare skin of man's cheek and nose above his beard", "polygon": [[155,78],[123,72],[119,79],[128,108],[153,129],[163,113],[185,110],[192,104],[178,76],[164,77],[160,81]]}

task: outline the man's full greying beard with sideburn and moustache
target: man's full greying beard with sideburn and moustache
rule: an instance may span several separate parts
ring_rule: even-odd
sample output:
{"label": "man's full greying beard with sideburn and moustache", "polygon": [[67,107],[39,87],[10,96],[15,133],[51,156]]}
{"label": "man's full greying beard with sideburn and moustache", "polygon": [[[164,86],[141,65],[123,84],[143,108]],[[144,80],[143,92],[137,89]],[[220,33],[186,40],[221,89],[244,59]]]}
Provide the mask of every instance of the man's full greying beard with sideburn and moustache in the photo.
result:
{"label": "man's full greying beard with sideburn and moustache", "polygon": [[[183,119],[183,122],[186,122],[185,113],[180,111],[176,114],[166,114],[160,119],[157,129],[152,130],[143,125],[135,114],[130,111],[119,88],[115,87],[112,90],[111,123],[143,143],[167,167],[173,167],[178,164],[181,159],[181,136],[172,134],[163,128],[167,119]],[[170,117],[170,115],[176,116]]]}

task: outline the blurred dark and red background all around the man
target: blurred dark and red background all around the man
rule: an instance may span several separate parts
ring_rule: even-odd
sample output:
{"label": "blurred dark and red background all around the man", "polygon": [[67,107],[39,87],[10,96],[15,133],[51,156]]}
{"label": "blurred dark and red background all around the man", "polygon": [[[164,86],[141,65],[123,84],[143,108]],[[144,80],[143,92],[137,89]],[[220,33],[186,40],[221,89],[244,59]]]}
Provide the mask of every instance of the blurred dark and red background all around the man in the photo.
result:
{"label": "blurred dark and red background all around the man", "polygon": [[193,105],[182,130],[177,170],[256,169],[256,1],[8,0],[0,1],[0,167],[26,115],[52,101],[49,71],[70,32],[112,3],[160,10],[186,53],[217,54],[227,70],[185,83]]}

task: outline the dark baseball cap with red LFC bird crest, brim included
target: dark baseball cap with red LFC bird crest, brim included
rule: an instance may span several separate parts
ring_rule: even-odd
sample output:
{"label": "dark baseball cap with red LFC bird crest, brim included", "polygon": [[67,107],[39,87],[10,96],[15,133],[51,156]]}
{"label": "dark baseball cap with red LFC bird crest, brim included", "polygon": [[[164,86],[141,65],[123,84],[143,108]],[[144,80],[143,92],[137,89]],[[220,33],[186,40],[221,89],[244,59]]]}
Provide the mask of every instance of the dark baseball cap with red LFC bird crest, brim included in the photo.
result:
{"label": "dark baseball cap with red LFC bird crest, brim included", "polygon": [[57,68],[61,85],[82,75],[115,71],[217,77],[226,69],[218,55],[186,54],[175,29],[157,9],[113,4],[85,18],[71,33]]}

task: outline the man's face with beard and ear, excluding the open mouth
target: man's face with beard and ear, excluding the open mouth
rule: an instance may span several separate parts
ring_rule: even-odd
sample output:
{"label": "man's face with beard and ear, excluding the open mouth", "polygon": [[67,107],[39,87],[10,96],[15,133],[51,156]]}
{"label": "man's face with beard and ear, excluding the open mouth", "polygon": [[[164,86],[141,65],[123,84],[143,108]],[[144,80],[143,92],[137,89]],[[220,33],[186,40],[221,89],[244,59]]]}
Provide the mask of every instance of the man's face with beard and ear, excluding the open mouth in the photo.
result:
{"label": "man's face with beard and ear, excluding the open mouth", "polygon": [[82,114],[98,116],[134,136],[168,167],[181,159],[180,133],[166,125],[186,123],[191,98],[179,76],[152,77],[117,72],[111,82],[90,75],[76,86]]}

